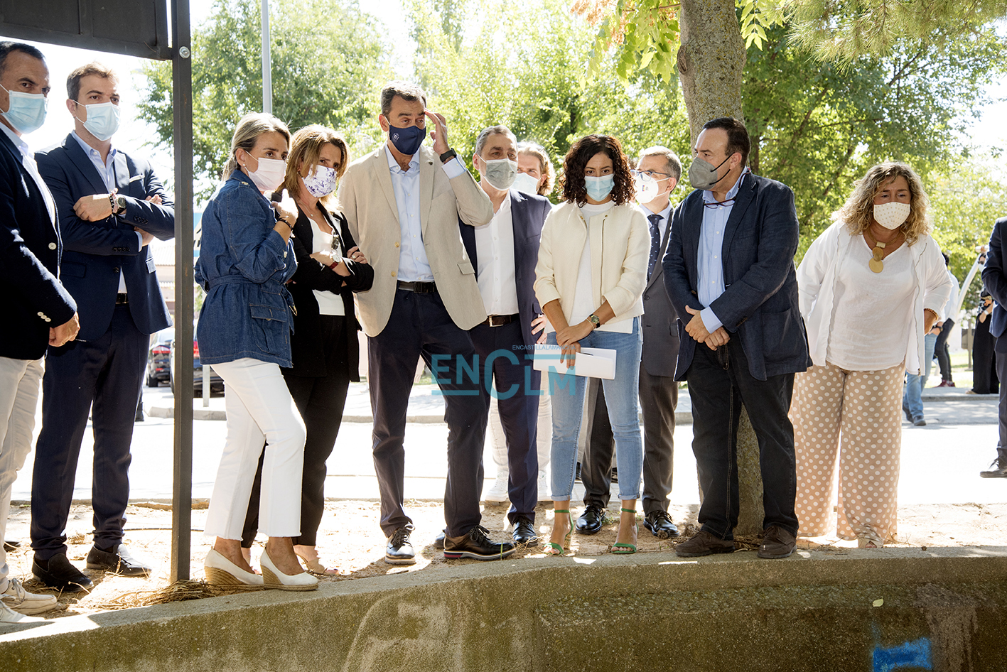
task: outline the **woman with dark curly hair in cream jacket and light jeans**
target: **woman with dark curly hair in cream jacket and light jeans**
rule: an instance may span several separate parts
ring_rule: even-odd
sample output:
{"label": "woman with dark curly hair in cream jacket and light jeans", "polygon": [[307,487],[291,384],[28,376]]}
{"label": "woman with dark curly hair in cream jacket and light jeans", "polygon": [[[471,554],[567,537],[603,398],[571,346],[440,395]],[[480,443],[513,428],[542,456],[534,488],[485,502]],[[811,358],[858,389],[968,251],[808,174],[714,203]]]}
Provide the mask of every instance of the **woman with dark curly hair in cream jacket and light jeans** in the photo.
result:
{"label": "woman with dark curly hair in cream jacket and light jeans", "polygon": [[[535,293],[556,329],[548,342],[562,347],[571,364],[581,346],[615,350],[615,377],[603,380],[615,438],[622,509],[613,553],[636,550],[636,499],[643,445],[637,419],[642,337],[638,316],[646,278],[651,235],[633,205],[633,180],[619,142],[590,135],[578,140],[563,161],[563,200],[546,217],[535,269]],[[552,538],[547,552],[570,547],[577,436],[584,405],[584,378],[549,373],[553,406]]]}

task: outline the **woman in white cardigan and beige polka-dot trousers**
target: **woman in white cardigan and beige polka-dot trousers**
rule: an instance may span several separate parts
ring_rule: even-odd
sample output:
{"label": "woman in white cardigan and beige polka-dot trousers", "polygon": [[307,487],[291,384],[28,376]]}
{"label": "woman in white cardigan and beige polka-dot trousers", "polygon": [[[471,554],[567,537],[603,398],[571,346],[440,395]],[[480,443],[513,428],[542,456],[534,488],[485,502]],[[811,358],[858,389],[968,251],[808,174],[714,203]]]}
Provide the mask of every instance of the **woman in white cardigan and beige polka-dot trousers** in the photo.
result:
{"label": "woman in white cardigan and beige polka-dot trousers", "polygon": [[815,364],[790,405],[802,536],[829,533],[838,454],[839,537],[861,548],[895,537],[902,380],[951,293],[928,202],[909,166],[878,164],[798,268]]}

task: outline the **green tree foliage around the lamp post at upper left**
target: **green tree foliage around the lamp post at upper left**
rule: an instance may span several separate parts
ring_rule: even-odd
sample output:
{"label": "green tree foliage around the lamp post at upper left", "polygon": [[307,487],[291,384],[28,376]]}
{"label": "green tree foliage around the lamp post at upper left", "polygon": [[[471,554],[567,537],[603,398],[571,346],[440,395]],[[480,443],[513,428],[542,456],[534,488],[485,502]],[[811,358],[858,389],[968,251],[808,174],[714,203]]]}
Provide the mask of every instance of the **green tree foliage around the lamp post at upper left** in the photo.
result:
{"label": "green tree foliage around the lamp post at upper left", "polygon": [[[291,131],[323,124],[341,131],[350,158],[380,139],[378,93],[389,78],[384,35],[354,0],[285,0],[270,16],[273,114]],[[262,109],[259,3],[215,0],[192,35],[193,173],[209,196],[238,120]],[[170,62],[148,62],[140,118],[154,143],[173,143]]]}

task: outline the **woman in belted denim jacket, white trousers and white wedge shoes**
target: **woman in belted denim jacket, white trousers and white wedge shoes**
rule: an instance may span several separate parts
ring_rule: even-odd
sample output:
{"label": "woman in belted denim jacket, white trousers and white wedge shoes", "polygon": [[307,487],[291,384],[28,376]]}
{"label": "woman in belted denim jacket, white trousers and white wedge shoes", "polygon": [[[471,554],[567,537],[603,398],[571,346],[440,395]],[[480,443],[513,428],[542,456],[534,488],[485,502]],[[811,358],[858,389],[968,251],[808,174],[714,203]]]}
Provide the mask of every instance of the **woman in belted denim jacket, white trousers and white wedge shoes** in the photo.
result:
{"label": "woman in belted denim jacket, white trousers and white wedge shoes", "polygon": [[[206,291],[196,333],[200,360],[225,383],[228,437],[213,484],[205,534],[210,583],[309,591],[291,537],[300,534],[304,423],[280,366],[290,366],[293,301],[284,286],[297,270],[290,233],[297,207],[270,203],[286,171],[290,131],[272,115],[242,119],[231,143],[224,185],[202,215],[195,280]],[[259,524],[269,536],[254,572],[241,538],[263,444]]]}

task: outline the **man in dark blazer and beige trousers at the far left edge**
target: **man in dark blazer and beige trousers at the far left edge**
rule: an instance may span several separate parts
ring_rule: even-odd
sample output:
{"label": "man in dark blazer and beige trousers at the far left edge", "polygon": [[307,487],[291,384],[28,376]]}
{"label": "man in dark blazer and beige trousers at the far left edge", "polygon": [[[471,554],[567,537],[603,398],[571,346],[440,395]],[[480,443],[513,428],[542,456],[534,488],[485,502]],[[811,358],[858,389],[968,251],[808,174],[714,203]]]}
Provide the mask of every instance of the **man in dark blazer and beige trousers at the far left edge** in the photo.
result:
{"label": "man in dark blazer and beige trousers at the far left edge", "polygon": [[[55,203],[38,175],[23,135],[45,120],[49,71],[41,52],[0,42],[0,542],[10,493],[31,452],[42,357],[47,345],[73,340],[77,304],[59,283],[62,244]],[[26,96],[11,98],[7,92]],[[0,544],[0,624],[36,621],[52,609],[49,595],[27,593],[8,576]]]}

